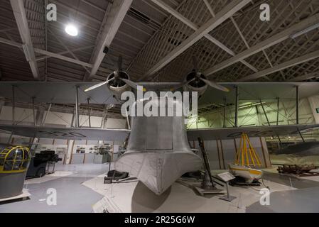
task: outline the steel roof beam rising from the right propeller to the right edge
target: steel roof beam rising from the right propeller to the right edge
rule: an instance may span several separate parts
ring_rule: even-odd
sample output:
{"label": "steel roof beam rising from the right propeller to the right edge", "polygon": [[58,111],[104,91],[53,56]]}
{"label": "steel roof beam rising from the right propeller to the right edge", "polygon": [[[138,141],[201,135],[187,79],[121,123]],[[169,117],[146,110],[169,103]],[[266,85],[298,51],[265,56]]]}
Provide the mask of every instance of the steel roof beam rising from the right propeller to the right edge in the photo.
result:
{"label": "steel roof beam rising from the right propeller to the right edge", "polygon": [[308,28],[309,26],[312,26],[318,22],[319,22],[319,13],[316,13],[315,15],[310,16],[309,18],[306,18],[303,21],[296,23],[295,25],[287,28],[286,30],[281,31],[280,33],[277,33],[276,35],[273,35],[271,38],[267,38],[266,40],[261,41],[261,43],[258,43],[252,46],[248,50],[244,50],[243,52],[240,52],[234,57],[230,57],[228,60],[225,60],[224,62],[221,62],[220,64],[210,67],[209,69],[204,71],[204,74],[210,75],[220,70],[223,70],[225,69],[225,67],[228,67],[229,65],[233,65],[234,63],[239,62],[240,60],[243,60],[246,57],[252,56],[256,54],[257,52],[260,52],[262,50],[265,50],[266,48],[276,45],[277,43],[281,43],[283,40],[290,38],[291,35],[295,34],[296,32],[302,31],[303,29]]}

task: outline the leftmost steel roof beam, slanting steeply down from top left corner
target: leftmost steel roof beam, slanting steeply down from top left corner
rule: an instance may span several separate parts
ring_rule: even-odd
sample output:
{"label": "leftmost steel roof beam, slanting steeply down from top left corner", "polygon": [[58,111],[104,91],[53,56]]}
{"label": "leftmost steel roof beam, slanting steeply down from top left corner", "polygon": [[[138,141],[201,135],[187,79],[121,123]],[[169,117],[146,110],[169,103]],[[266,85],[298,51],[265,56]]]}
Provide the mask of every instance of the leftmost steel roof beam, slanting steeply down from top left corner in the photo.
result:
{"label": "leftmost steel roof beam, slanting steeply down from top left corner", "polygon": [[24,55],[26,55],[26,60],[30,64],[33,77],[35,79],[40,79],[38,65],[36,62],[36,55],[34,53],[31,34],[28,28],[28,19],[26,18],[26,10],[24,9],[23,0],[10,0],[10,2],[14,18],[16,18],[16,23],[18,25],[18,31],[23,43],[22,48]]}

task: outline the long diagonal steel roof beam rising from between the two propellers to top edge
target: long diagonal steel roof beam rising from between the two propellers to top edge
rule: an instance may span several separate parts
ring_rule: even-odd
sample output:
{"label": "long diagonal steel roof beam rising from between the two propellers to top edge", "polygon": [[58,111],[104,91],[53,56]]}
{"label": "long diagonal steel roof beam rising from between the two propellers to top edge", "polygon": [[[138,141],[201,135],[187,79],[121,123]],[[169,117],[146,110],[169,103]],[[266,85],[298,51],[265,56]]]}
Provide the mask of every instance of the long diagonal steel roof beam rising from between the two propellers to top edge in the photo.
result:
{"label": "long diagonal steel roof beam rising from between the two propellers to top edge", "polygon": [[183,43],[178,45],[177,48],[175,48],[173,51],[168,53],[168,55],[163,57],[163,59],[160,60],[156,65],[151,67],[151,69],[146,72],[144,77],[150,76],[158,72],[158,70],[161,70],[163,67],[168,65],[169,62],[174,60],[175,57],[178,57],[178,55],[190,48],[190,46],[192,46],[194,43],[196,43],[198,40],[200,40],[214,28],[217,28],[217,26],[226,21],[230,16],[242,9],[249,2],[250,0],[231,1],[231,3],[229,3],[219,13],[216,14],[215,18],[211,18],[209,21],[207,21],[203,26],[198,28],[192,35],[190,35],[190,37],[184,40]]}

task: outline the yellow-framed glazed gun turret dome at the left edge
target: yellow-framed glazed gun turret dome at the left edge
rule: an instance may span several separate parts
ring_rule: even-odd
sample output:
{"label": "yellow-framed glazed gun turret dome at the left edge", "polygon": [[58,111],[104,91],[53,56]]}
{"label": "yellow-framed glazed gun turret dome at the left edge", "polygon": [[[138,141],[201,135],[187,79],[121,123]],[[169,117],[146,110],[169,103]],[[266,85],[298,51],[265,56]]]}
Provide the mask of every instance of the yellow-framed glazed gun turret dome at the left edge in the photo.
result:
{"label": "yellow-framed glazed gun turret dome at the left edge", "polygon": [[31,160],[30,150],[23,146],[10,146],[0,153],[0,174],[25,172]]}

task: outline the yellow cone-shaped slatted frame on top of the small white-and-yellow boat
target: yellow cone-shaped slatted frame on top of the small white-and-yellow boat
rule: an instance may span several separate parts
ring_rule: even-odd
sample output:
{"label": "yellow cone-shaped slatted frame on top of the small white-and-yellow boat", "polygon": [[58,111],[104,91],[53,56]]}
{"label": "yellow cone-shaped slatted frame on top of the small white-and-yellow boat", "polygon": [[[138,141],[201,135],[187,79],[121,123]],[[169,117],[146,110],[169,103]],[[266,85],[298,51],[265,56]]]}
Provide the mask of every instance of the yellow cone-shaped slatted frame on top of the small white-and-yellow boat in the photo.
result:
{"label": "yellow cone-shaped slatted frame on top of the small white-and-yellow boat", "polygon": [[242,137],[240,138],[239,149],[237,150],[235,164],[254,167],[256,167],[256,165],[258,165],[259,167],[261,166],[259,156],[256,153],[256,150],[253,148],[252,143],[250,143],[247,134],[245,133],[242,133]]}

